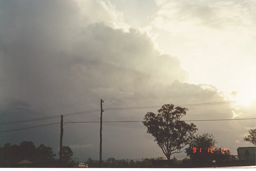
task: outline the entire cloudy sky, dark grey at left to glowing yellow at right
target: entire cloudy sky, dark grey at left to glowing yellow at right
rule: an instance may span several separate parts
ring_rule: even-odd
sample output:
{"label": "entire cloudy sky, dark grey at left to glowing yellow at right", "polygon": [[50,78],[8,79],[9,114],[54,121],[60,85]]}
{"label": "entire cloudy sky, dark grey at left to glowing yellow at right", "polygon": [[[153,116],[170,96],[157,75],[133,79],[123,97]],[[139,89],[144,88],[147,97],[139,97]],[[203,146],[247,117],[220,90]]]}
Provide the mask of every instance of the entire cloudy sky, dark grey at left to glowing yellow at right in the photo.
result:
{"label": "entire cloudy sky, dark grey at left to glowing yellow at right", "polygon": [[[255,8],[254,0],[0,1],[0,131],[56,115],[99,121],[91,110],[101,98],[103,121],[141,121],[159,109],[107,108],[214,102],[228,103],[188,106],[183,119],[255,118]],[[3,124],[13,121],[22,122]],[[255,120],[193,123],[233,155],[253,146],[243,137]],[[67,123],[63,145],[78,161],[98,160],[99,128]],[[3,132],[0,146],[32,141],[58,154],[59,132],[59,124]],[[164,157],[142,123],[103,123],[102,136],[103,160]]]}

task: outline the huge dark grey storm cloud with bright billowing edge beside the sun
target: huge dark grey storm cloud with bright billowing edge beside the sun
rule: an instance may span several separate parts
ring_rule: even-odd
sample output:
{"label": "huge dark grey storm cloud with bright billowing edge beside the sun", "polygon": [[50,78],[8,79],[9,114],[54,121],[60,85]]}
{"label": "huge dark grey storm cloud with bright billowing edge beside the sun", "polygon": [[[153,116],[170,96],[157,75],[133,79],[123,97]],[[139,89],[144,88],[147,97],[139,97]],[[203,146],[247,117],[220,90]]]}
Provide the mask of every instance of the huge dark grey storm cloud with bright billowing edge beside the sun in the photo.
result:
{"label": "huge dark grey storm cloud with bright billowing edge beside the sun", "polygon": [[[0,114],[3,122],[98,109],[101,98],[105,100],[104,108],[225,100],[214,86],[203,82],[185,83],[188,73],[181,68],[177,57],[161,54],[145,32],[128,28],[122,13],[103,1],[1,1]],[[212,94],[153,97],[191,93]],[[109,99],[144,96],[151,98]],[[70,103],[76,105],[63,106]],[[47,109],[52,106],[54,108]],[[41,110],[24,113],[37,108]],[[106,121],[142,120],[146,112],[156,110],[106,110],[103,117]],[[192,106],[189,110],[184,120],[253,115],[243,113],[248,108],[232,105]],[[98,115],[99,112],[67,116],[65,122],[97,121]],[[3,125],[1,130],[59,120]],[[236,153],[237,147],[233,144],[245,145],[242,134],[246,132],[238,135],[234,131],[247,131],[246,126],[253,127],[255,122],[237,122],[239,126],[234,123],[195,122],[199,133],[217,132],[214,135],[220,146],[231,147]],[[65,124],[63,145],[71,145],[74,156],[81,161],[89,157],[98,159],[99,127],[93,123]],[[231,133],[218,133],[223,131]],[[32,140],[36,145],[53,147],[58,153],[59,127],[1,133],[0,139],[0,145]],[[103,158],[163,156],[153,140],[141,123],[104,123]]]}

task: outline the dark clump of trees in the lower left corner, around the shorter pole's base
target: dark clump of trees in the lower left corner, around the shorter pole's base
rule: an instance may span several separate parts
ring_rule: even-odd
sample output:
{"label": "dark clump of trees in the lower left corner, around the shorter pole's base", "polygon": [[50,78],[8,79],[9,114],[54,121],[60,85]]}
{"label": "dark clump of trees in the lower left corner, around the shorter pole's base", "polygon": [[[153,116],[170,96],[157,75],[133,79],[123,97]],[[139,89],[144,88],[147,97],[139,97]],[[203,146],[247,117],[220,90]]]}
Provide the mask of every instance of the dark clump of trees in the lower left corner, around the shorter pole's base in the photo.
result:
{"label": "dark clump of trees in the lower left corner, around the shorter pole's base", "polygon": [[6,143],[0,147],[0,167],[73,167],[73,152],[70,147],[62,147],[62,162],[53,153],[51,147],[40,144],[35,147],[31,141],[19,145]]}

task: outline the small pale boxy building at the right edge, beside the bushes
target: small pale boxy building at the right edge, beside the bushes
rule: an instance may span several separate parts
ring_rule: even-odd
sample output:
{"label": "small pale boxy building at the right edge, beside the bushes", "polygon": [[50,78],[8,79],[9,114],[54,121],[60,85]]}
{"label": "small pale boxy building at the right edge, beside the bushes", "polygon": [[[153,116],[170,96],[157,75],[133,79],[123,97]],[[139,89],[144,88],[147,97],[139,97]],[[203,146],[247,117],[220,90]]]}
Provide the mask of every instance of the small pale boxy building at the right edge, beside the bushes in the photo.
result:
{"label": "small pale boxy building at the right edge, beside the bushes", "polygon": [[238,147],[238,160],[255,160],[256,147]]}

